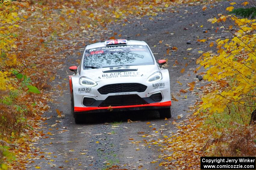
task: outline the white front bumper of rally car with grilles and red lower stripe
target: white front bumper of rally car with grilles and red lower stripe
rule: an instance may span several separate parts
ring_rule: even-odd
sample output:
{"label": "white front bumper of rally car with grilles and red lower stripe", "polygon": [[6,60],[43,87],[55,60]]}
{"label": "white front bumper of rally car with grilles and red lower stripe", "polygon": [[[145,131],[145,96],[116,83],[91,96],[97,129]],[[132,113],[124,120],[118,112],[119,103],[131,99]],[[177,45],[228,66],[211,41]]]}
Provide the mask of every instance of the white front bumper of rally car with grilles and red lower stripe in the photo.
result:
{"label": "white front bumper of rally car with grilles and red lower stripe", "polygon": [[[104,79],[98,81],[98,85],[94,87],[80,85],[79,78],[73,76],[70,92],[73,92],[74,112],[106,112],[112,109],[113,111],[123,111],[170,107],[169,73],[167,70],[162,70],[162,73],[164,75],[163,79],[158,82],[147,82],[146,79],[140,76],[137,79]],[[139,86],[137,86],[138,83]],[[115,84],[122,85],[113,86]],[[107,88],[102,89],[103,86],[107,86]],[[161,94],[161,98],[157,94]]]}

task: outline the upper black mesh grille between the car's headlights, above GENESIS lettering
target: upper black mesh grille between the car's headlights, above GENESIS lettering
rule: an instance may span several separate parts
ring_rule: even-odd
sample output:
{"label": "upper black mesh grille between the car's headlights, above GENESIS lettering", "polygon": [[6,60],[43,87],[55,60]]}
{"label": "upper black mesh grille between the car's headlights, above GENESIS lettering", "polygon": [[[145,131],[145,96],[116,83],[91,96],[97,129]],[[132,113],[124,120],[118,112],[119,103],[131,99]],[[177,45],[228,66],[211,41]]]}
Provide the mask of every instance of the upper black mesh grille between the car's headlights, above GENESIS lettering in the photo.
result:
{"label": "upper black mesh grille between the car's headlights, above GENESIS lettering", "polygon": [[124,93],[124,92],[144,92],[147,89],[147,86],[140,83],[118,83],[102,86],[98,88],[100,94],[109,94],[109,93]]}

